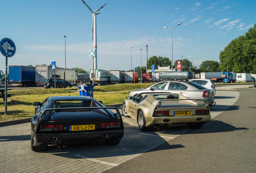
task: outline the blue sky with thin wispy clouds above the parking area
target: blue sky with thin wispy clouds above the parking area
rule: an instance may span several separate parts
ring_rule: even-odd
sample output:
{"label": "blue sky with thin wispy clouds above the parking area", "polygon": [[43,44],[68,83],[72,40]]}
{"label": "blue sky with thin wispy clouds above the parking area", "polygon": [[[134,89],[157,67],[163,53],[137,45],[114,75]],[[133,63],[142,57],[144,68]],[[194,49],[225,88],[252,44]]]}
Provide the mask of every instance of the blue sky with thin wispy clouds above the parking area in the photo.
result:
{"label": "blue sky with thin wispy clouds above the parking area", "polygon": [[[146,65],[153,55],[173,62],[190,59],[199,68],[202,61],[219,61],[219,53],[237,36],[256,23],[256,1],[252,0],[85,0],[97,14],[97,67],[130,70]],[[16,53],[8,65],[51,64],[85,70],[93,68],[92,14],[82,0],[1,0],[0,40],[10,38]],[[140,49],[142,51],[140,52]],[[5,57],[0,54],[0,70]]]}

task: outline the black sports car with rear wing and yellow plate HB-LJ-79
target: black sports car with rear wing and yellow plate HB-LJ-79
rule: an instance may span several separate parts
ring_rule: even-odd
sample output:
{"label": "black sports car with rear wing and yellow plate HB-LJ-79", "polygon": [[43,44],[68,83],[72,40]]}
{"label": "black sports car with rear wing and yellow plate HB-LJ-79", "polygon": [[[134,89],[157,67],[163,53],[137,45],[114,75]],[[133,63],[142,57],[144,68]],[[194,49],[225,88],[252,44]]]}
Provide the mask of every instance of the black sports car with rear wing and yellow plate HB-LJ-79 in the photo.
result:
{"label": "black sports car with rear wing and yellow plate HB-LJ-79", "polygon": [[88,96],[48,97],[34,102],[31,119],[31,149],[44,151],[48,143],[100,139],[105,145],[117,145],[124,135],[120,112],[105,107]]}

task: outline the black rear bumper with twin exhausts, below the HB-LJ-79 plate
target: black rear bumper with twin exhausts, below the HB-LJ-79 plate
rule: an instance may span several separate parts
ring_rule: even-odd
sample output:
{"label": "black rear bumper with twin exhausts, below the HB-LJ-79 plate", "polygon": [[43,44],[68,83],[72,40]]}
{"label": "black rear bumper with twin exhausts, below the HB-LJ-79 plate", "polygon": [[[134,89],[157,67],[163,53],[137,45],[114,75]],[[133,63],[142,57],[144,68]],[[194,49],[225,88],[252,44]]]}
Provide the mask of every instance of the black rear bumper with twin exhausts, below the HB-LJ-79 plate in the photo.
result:
{"label": "black rear bumper with twin exhausts, below the HB-LJ-79 plate", "polygon": [[109,131],[91,131],[80,133],[50,133],[50,134],[35,134],[32,133],[33,146],[39,147],[41,143],[54,143],[54,142],[71,142],[71,141],[86,141],[89,139],[107,139],[117,138],[122,139],[124,129],[109,130]]}

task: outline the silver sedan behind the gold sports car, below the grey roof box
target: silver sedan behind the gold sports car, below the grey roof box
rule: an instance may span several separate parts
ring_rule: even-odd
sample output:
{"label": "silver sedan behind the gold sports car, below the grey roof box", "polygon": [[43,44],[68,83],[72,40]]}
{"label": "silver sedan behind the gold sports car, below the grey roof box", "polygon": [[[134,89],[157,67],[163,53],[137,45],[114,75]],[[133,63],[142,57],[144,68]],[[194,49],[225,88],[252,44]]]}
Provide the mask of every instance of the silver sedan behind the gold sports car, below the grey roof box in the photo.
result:
{"label": "silver sedan behind the gold sports car, below the grey roof box", "polygon": [[185,80],[169,80],[153,84],[146,89],[136,89],[130,92],[129,99],[133,99],[134,95],[145,92],[169,92],[183,95],[189,99],[205,99],[209,106],[215,104],[214,92],[212,89],[206,89],[200,84],[188,82]]}

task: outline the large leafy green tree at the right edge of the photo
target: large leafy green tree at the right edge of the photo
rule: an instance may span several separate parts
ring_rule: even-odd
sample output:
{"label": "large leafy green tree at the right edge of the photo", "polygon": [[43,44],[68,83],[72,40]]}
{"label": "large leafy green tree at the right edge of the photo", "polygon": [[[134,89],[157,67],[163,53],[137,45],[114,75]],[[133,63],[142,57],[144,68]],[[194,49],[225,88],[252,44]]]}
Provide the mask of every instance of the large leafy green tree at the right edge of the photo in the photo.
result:
{"label": "large leafy green tree at the right edge of the photo", "polygon": [[[236,73],[256,73],[256,24],[245,35],[232,40],[219,54],[219,69]],[[252,55],[253,54],[253,55]]]}

